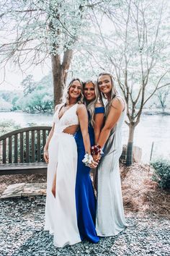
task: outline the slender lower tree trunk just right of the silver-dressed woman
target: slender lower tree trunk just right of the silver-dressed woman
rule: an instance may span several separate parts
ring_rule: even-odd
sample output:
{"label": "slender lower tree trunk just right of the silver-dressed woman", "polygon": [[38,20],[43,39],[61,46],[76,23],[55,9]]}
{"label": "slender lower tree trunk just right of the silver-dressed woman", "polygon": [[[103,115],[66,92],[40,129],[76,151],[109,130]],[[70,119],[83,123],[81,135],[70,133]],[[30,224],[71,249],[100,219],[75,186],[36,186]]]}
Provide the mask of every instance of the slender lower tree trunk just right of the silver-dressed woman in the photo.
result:
{"label": "slender lower tree trunk just right of the silver-dressed woman", "polygon": [[129,126],[129,138],[127,146],[127,155],[126,155],[126,166],[131,166],[133,164],[133,137],[135,132],[135,126]]}

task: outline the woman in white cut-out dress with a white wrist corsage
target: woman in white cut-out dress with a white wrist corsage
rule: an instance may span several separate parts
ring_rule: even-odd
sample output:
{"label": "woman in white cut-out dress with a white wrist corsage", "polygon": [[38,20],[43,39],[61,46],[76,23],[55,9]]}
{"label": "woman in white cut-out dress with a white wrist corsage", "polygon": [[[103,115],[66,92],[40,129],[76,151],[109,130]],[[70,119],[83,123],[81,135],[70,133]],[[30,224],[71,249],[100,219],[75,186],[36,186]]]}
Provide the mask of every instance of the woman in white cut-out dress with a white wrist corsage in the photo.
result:
{"label": "woman in white cut-out dress with a white wrist corsage", "polygon": [[87,164],[96,167],[91,160],[88,115],[82,100],[82,82],[73,79],[66,88],[63,103],[55,106],[53,127],[44,148],[48,163],[45,230],[53,234],[56,247],[81,242],[76,218],[77,148],[73,137],[79,124],[88,153]]}

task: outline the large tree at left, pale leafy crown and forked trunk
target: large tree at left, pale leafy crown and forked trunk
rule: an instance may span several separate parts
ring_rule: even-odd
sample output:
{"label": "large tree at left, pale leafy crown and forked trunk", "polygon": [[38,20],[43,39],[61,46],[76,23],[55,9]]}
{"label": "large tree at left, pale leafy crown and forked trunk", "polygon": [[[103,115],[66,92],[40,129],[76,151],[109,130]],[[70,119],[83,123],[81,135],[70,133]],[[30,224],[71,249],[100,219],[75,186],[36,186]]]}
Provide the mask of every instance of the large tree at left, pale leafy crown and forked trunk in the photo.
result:
{"label": "large tree at left, pale leafy crown and forked trunk", "polygon": [[[21,69],[52,61],[55,104],[61,98],[78,38],[86,30],[87,0],[2,0],[1,67],[13,61]],[[94,1],[95,2],[95,1]]]}

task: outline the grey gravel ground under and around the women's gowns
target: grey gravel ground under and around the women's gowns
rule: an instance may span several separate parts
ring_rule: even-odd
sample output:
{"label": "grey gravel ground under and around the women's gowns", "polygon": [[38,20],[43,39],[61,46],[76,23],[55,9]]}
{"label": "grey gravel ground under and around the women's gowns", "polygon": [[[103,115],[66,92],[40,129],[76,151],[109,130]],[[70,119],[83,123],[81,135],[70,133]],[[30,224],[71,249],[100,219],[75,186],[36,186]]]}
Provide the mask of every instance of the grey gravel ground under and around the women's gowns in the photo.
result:
{"label": "grey gravel ground under and around the women's gowns", "polygon": [[[56,248],[53,236],[43,231],[45,197],[0,200],[0,255],[169,255],[167,218],[128,217],[128,228],[98,244],[81,242]],[[69,214],[69,213],[68,213]]]}

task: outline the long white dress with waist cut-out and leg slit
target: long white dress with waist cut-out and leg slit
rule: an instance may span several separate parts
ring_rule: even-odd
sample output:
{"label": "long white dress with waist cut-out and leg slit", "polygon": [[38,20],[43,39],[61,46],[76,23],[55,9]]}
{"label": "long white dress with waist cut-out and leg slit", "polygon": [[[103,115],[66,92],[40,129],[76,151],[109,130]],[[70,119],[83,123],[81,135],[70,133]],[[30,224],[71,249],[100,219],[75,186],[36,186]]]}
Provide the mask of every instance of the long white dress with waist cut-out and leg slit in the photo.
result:
{"label": "long white dress with waist cut-out and leg slit", "polygon": [[[78,104],[69,108],[61,119],[58,113],[53,116],[55,123],[53,137],[50,140],[48,152],[48,181],[45,205],[45,230],[53,234],[53,244],[63,247],[66,244],[81,242],[76,218],[76,168],[77,148],[73,135],[63,130],[74,124],[79,124],[76,108]],[[55,197],[51,192],[53,179],[56,174]]]}

